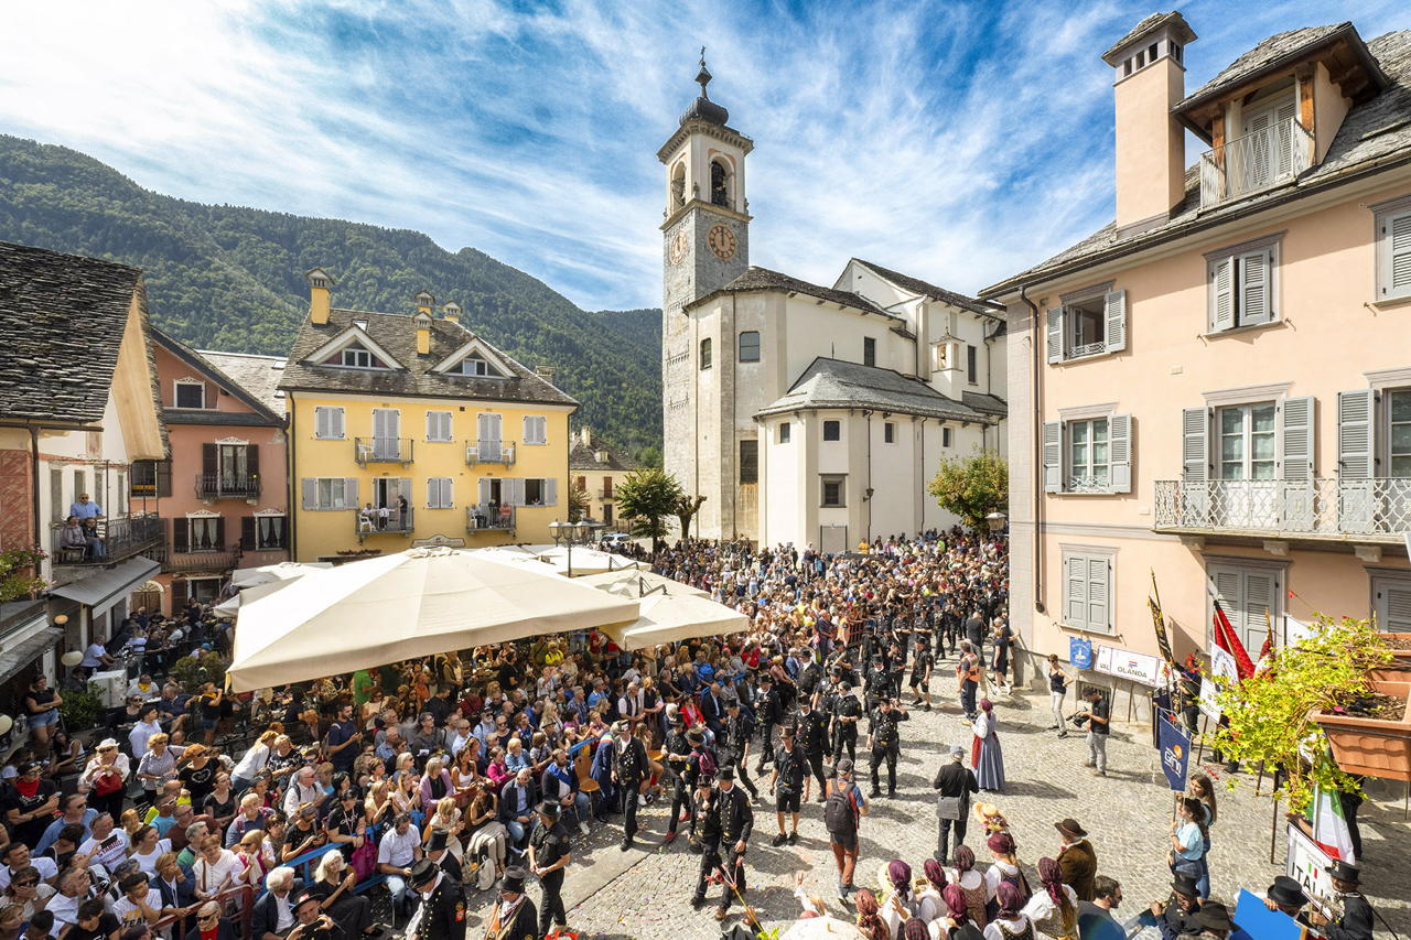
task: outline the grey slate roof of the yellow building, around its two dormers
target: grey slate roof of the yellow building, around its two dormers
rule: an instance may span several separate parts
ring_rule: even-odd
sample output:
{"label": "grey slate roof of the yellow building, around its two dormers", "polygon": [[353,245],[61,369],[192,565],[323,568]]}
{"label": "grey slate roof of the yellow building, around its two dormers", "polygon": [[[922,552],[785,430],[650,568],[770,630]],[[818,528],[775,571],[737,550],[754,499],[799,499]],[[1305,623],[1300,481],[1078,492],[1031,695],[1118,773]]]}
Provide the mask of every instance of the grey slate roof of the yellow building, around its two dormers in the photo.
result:
{"label": "grey slate roof of the yellow building, around its two dormers", "polygon": [[[353,320],[367,320],[367,335],[385,349],[404,368],[341,368],[316,366],[308,356],[353,326]],[[430,356],[416,354],[416,327],[404,313],[373,313],[367,311],[329,312],[329,322],[319,326],[308,319],[299,327],[284,368],[279,388],[284,391],[332,391],[365,395],[408,395],[412,398],[466,398],[473,401],[508,401],[547,405],[577,405],[579,402],[529,371],[481,337],[490,350],[509,367],[509,378],[473,378],[433,373],[432,367],[468,343],[473,333],[450,320],[432,320]]]}

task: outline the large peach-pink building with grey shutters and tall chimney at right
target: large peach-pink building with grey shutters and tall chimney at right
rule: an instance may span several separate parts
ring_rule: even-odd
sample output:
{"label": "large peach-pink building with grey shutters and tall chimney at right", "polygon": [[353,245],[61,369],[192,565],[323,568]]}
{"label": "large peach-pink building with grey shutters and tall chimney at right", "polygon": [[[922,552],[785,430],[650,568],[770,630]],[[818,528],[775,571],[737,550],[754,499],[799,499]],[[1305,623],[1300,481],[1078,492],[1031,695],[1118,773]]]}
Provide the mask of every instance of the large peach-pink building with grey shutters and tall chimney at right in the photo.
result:
{"label": "large peach-pink building with grey shutters and tall chimney at right", "polygon": [[1153,573],[1178,658],[1208,649],[1208,584],[1252,655],[1285,614],[1411,629],[1411,31],[1281,32],[1188,93],[1195,38],[1156,14],[1103,54],[1115,222],[982,292],[1016,632],[1133,675]]}

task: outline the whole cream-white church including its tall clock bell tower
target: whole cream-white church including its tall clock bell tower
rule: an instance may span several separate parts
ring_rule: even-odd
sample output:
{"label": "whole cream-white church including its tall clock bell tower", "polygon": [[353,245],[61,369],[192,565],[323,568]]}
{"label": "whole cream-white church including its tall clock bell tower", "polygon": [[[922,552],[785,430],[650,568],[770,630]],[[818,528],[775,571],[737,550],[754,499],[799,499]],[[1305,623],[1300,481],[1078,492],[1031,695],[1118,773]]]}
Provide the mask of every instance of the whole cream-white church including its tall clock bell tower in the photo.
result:
{"label": "whole cream-white church including its tall clock bell tower", "polygon": [[859,258],[831,287],[749,264],[753,141],[701,93],[666,168],[665,463],[694,532],[838,552],[947,528],[945,457],[1005,450],[1003,311]]}

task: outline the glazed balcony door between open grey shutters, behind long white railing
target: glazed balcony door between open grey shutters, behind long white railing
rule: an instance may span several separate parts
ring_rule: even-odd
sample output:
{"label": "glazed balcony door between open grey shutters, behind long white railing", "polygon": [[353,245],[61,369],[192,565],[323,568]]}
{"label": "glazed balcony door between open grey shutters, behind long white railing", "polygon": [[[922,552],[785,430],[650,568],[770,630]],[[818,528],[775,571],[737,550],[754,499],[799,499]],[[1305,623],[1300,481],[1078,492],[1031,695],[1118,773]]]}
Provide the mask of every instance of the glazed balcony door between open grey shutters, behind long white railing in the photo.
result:
{"label": "glazed balcony door between open grey shutters, behind long white railing", "polygon": [[1215,415],[1215,507],[1219,524],[1237,529],[1277,528],[1278,412],[1274,402],[1230,405]]}

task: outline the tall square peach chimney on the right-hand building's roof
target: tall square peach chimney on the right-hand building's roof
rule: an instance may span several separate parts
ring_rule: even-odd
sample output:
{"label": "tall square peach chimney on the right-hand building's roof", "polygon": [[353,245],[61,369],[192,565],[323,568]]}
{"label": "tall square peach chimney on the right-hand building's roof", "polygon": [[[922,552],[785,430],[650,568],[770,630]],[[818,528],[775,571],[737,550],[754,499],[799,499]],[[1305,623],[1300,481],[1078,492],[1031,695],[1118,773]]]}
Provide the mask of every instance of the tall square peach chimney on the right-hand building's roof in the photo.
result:
{"label": "tall square peach chimney on the right-hand building's roof", "polygon": [[1154,13],[1102,55],[1115,72],[1118,237],[1161,224],[1185,196],[1184,52],[1195,31],[1178,11]]}

